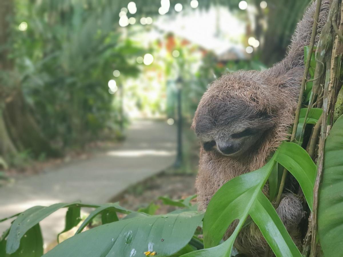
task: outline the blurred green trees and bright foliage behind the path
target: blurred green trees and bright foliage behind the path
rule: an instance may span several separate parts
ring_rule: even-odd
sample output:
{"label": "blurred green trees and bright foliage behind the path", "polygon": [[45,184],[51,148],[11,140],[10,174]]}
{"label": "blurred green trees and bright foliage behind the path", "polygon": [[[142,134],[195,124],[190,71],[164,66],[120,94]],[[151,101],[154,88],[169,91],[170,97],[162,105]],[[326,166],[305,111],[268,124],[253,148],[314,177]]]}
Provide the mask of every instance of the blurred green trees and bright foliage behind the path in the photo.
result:
{"label": "blurred green trees and bright foliage behind the path", "polygon": [[[118,139],[134,117],[166,117],[173,124],[180,77],[189,127],[214,79],[284,57],[309,2],[1,1],[1,160],[17,165],[18,156],[59,157],[93,140]],[[214,38],[232,43],[233,51],[218,54],[163,25],[211,10]],[[244,24],[242,35],[223,35],[221,26],[230,24],[220,24],[222,10]]]}

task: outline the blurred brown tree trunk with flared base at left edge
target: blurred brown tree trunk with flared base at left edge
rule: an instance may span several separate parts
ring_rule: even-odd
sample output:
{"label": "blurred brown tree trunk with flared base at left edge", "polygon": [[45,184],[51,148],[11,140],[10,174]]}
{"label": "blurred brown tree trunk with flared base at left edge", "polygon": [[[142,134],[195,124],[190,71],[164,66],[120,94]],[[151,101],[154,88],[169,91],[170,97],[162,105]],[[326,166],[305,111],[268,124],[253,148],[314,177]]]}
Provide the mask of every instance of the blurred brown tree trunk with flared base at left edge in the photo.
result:
{"label": "blurred brown tree trunk with flared base at left edge", "polygon": [[[11,73],[13,60],[8,58],[11,52],[11,20],[14,15],[13,1],[0,1],[0,69]],[[8,80],[7,80],[8,81]],[[13,80],[14,81],[14,80]],[[19,85],[8,85],[0,80],[0,154],[5,158],[16,154],[16,149],[32,151],[38,157],[45,152],[48,156],[57,156],[59,152],[52,148],[43,136],[29,112]],[[13,83],[16,84],[16,83]]]}

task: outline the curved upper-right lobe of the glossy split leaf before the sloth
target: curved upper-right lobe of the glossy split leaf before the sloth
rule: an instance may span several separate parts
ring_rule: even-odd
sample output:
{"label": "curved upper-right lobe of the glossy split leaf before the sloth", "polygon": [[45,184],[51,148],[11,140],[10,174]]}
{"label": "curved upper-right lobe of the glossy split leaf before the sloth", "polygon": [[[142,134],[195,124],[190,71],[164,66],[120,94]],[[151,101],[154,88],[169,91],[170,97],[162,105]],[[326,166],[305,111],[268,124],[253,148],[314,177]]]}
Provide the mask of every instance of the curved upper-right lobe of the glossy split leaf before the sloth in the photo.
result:
{"label": "curved upper-right lobe of the glossy split leaf before the sloth", "polygon": [[283,142],[274,155],[275,161],[285,167],[299,182],[307,204],[312,210],[313,187],[316,179],[316,164],[298,144]]}

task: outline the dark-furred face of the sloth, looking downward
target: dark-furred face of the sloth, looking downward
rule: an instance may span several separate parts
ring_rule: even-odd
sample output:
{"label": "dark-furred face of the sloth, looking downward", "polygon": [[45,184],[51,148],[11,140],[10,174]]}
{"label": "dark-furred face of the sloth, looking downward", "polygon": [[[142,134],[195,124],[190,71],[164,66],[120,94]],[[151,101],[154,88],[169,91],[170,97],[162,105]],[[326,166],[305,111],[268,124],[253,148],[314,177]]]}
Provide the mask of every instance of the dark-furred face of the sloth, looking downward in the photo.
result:
{"label": "dark-furred face of the sloth, looking downward", "polygon": [[230,157],[256,150],[273,126],[271,115],[239,101],[199,106],[193,122],[205,151]]}

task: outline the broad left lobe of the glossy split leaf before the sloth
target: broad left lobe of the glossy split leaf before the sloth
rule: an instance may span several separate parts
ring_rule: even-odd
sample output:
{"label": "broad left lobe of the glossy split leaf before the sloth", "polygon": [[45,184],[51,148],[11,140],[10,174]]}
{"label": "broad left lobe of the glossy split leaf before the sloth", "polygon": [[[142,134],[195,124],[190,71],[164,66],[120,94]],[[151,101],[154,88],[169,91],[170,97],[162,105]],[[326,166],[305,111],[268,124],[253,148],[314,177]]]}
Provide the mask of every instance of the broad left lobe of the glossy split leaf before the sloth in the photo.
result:
{"label": "broad left lobe of the glossy split leaf before the sloth", "polygon": [[228,181],[214,194],[204,216],[205,248],[218,245],[235,219],[244,223],[275,164],[272,158],[262,168]]}

